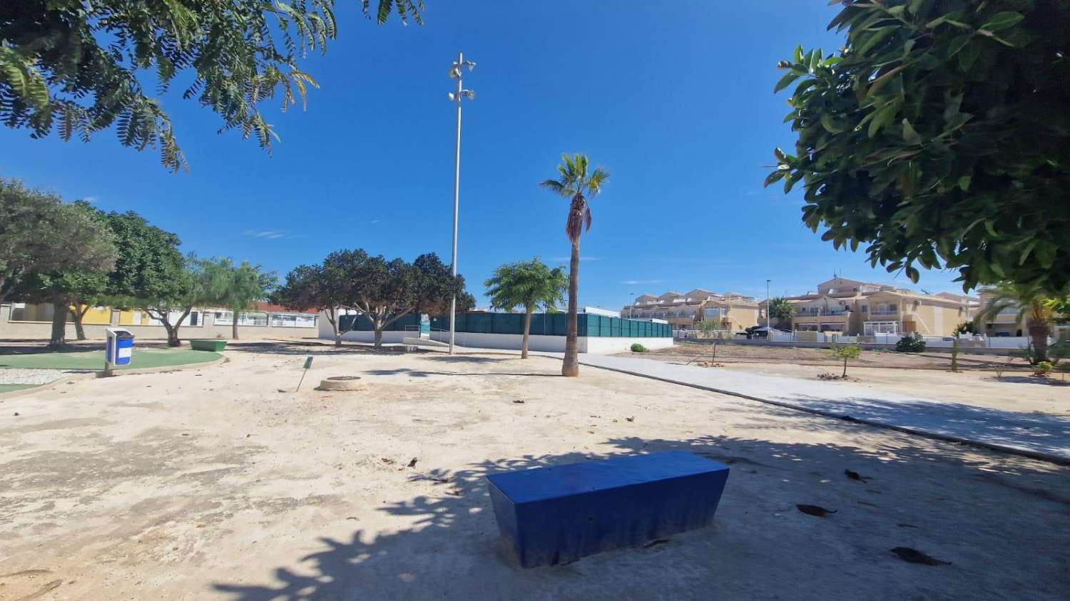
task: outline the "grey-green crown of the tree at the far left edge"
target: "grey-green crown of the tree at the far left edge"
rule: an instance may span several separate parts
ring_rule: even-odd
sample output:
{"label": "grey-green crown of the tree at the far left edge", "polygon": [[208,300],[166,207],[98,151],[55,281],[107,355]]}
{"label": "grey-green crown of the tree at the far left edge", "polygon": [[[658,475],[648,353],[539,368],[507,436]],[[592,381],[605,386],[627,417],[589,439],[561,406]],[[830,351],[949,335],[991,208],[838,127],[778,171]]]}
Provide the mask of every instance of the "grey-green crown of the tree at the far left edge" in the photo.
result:
{"label": "grey-green crown of the tree at the far left edge", "polygon": [[29,274],[110,268],[110,238],[81,204],[0,178],[0,302]]}

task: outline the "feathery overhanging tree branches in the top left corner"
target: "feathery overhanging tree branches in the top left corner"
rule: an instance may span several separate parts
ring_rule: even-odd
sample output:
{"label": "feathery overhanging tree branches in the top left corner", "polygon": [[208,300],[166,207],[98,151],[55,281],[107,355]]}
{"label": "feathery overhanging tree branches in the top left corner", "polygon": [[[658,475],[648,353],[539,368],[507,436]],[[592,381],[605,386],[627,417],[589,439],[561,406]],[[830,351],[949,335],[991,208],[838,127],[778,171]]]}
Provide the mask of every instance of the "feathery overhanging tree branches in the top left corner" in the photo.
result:
{"label": "feathery overhanging tree branches in the top left corner", "polygon": [[[274,128],[260,103],[282,96],[282,110],[318,87],[301,71],[308,51],[326,52],[335,37],[334,0],[225,3],[15,0],[0,3],[0,120],[41,138],[58,125],[64,140],[83,141],[117,125],[119,141],[158,145],[165,167],[185,158],[159,98],[175,79],[196,98],[271,150]],[[423,22],[423,0],[361,0],[378,24],[396,13]],[[296,92],[296,94],[294,93]]]}

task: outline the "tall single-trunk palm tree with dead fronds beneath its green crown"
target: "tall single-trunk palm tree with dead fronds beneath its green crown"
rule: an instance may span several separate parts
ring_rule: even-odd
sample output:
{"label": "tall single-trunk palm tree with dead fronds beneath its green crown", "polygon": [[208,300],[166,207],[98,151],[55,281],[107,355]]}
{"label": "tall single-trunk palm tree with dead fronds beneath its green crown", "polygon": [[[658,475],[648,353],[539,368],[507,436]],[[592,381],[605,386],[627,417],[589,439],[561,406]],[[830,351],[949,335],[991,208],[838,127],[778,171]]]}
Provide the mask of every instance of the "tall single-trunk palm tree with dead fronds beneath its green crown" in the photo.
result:
{"label": "tall single-trunk palm tree with dead fronds beneath its green crown", "polygon": [[591,230],[591,206],[588,201],[598,196],[602,184],[609,180],[609,171],[596,167],[587,172],[587,157],[583,154],[561,155],[563,163],[557,166],[561,178],[539,184],[560,196],[570,199],[568,218],[565,220],[565,235],[572,243],[572,256],[568,262],[568,329],[565,336],[565,360],[561,366],[562,375],[579,375],[580,364],[576,346],[579,310],[576,306],[580,287],[580,235]]}

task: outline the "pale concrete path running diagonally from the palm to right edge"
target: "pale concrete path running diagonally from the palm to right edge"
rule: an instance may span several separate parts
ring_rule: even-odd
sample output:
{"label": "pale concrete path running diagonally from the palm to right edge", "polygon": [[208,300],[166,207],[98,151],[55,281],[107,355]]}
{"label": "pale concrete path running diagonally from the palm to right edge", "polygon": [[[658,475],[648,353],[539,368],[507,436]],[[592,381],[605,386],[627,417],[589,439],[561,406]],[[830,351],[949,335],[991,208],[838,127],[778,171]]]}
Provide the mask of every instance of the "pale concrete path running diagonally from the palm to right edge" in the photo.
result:
{"label": "pale concrete path running diagonally from the palm to right edge", "polygon": [[[561,353],[540,353],[561,356]],[[883,392],[840,382],[779,377],[581,354],[580,364],[806,412],[1070,464],[1070,419]]]}

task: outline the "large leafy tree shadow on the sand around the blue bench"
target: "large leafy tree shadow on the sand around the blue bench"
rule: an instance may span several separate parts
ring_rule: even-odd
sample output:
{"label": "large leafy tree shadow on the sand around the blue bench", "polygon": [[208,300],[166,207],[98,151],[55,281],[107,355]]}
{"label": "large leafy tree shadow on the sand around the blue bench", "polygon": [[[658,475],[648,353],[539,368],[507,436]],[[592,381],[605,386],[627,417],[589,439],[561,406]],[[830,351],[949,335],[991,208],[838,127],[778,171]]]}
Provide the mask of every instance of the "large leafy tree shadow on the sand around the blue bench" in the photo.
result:
{"label": "large leafy tree shadow on the sand around the blue bench", "polygon": [[[751,413],[761,417],[765,409]],[[819,435],[858,429],[811,418],[799,432],[813,438],[808,425],[816,422]],[[431,492],[377,509],[407,519],[407,527],[319,537],[320,550],[295,556],[263,584],[213,588],[241,601],[1070,594],[1066,469],[892,432],[885,443],[858,448],[710,435],[622,437],[605,441],[599,452],[492,458],[456,472],[411,473],[410,482],[429,483]],[[521,570],[508,560],[487,475],[664,450],[688,450],[731,466],[713,526],[567,566]],[[865,480],[847,478],[844,469]],[[814,518],[795,504],[837,513]],[[890,552],[897,546],[951,564],[906,564]]]}

